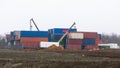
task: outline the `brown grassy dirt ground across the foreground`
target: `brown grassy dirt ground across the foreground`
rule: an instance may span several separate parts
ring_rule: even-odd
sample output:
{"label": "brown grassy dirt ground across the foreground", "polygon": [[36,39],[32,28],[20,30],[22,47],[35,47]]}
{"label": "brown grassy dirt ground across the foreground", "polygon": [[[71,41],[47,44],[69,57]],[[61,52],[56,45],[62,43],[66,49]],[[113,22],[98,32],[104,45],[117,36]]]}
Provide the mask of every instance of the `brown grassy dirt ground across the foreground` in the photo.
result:
{"label": "brown grassy dirt ground across the foreground", "polygon": [[120,49],[99,51],[0,49],[0,68],[7,65],[11,68],[120,68]]}

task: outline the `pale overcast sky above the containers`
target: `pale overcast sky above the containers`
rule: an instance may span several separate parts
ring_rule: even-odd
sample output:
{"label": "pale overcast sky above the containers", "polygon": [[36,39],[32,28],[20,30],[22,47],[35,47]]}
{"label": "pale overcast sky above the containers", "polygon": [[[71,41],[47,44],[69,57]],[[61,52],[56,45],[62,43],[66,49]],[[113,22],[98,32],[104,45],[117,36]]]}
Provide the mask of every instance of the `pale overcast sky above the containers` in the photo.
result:
{"label": "pale overcast sky above the containers", "polygon": [[30,18],[40,30],[76,22],[78,31],[120,34],[120,0],[0,0],[0,34],[30,30]]}

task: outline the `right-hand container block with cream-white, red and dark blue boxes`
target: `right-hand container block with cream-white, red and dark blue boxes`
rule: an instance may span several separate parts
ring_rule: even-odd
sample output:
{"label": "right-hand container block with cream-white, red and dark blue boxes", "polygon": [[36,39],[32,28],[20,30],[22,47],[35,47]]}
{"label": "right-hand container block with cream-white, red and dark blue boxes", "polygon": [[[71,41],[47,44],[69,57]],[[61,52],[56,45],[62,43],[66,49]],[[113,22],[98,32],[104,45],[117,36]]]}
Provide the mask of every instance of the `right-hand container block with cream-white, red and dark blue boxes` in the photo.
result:
{"label": "right-hand container block with cream-white, red and dark blue boxes", "polygon": [[98,49],[101,37],[97,32],[72,32],[68,34],[68,49]]}

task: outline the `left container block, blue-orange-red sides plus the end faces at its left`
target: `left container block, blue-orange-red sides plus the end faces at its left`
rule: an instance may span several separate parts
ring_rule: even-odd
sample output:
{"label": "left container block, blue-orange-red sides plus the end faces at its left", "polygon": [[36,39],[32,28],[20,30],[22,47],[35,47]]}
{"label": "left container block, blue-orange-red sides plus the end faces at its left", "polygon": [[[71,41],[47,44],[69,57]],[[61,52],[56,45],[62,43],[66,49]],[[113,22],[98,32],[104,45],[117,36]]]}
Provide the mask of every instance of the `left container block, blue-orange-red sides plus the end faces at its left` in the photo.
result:
{"label": "left container block, blue-orange-red sides plus the end faces at its left", "polygon": [[41,41],[48,41],[48,31],[14,31],[15,48],[40,48]]}

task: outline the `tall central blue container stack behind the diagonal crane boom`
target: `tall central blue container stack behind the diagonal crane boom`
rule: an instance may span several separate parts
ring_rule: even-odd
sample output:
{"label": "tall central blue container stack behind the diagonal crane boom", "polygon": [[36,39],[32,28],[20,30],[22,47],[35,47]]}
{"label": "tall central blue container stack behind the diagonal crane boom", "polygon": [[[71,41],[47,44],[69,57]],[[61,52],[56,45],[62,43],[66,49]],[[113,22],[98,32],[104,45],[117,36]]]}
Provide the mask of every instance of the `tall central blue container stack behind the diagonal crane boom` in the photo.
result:
{"label": "tall central blue container stack behind the diagonal crane boom", "polygon": [[[53,28],[48,30],[48,41],[49,42],[58,42],[58,40],[65,34],[69,29],[67,28]],[[70,32],[76,32],[77,29],[71,29]],[[66,47],[66,38],[60,42],[64,48]]]}

